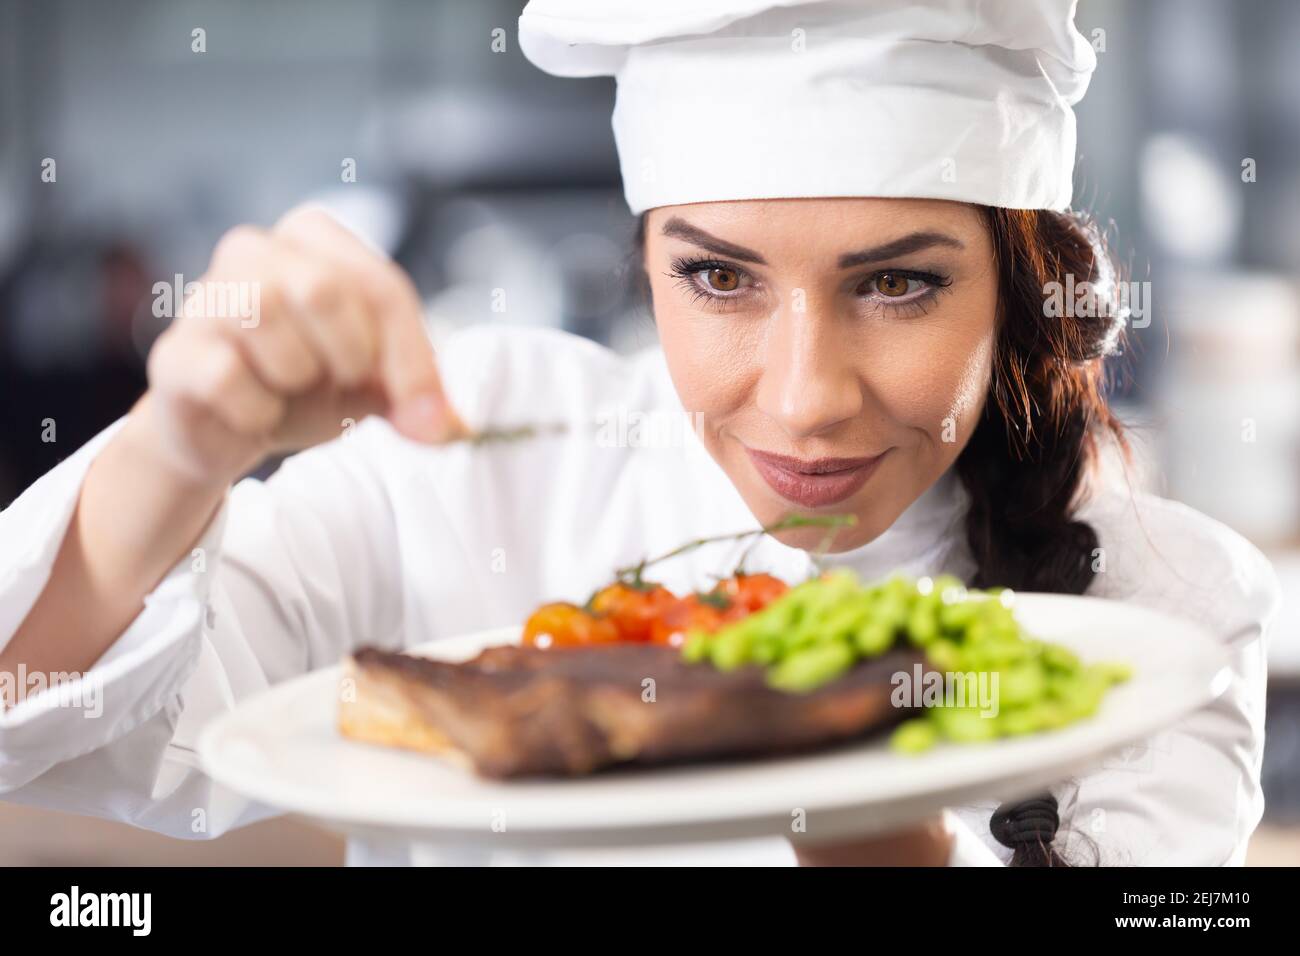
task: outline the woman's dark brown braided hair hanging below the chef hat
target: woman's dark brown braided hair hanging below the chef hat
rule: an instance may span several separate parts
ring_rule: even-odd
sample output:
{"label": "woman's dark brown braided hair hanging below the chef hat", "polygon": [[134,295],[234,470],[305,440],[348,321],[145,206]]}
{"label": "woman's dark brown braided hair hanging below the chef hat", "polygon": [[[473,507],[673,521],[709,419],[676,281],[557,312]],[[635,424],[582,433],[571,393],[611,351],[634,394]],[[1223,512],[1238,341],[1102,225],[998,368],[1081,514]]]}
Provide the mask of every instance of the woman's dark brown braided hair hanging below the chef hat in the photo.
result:
{"label": "woman's dark brown braided hair hanging below the chef hat", "polygon": [[[968,584],[1082,594],[1098,541],[1075,510],[1102,442],[1114,440],[1127,454],[1105,399],[1105,359],[1121,350],[1124,332],[1121,271],[1083,213],[980,212],[997,267],[998,316],[989,393],[954,466],[970,498],[966,544],[976,570]],[[642,213],[632,277],[649,302],[645,229]],[[989,821],[1013,851],[1013,866],[1069,865],[1052,845],[1058,823],[1050,795],[1004,804]]]}

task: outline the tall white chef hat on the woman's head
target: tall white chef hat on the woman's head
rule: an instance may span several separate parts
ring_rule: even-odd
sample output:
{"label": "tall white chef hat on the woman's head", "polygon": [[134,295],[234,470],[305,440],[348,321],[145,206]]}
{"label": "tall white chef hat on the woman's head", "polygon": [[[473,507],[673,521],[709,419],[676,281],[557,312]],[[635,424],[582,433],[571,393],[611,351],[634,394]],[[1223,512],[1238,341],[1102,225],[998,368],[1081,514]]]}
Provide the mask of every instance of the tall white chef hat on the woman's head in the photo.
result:
{"label": "tall white chef hat on the woman's head", "polygon": [[1097,59],[1078,0],[530,0],[519,43],[618,81],[633,213],[789,196],[1063,209]]}

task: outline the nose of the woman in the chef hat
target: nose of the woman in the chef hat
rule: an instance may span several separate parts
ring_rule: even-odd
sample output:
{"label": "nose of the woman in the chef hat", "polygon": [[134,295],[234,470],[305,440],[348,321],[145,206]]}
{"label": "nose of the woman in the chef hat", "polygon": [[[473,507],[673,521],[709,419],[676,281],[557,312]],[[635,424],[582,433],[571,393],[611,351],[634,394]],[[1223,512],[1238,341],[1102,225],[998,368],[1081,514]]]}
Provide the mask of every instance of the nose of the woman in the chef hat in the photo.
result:
{"label": "nose of the woman in the chef hat", "polygon": [[757,403],[790,438],[819,434],[863,407],[853,349],[833,319],[783,310],[768,332]]}

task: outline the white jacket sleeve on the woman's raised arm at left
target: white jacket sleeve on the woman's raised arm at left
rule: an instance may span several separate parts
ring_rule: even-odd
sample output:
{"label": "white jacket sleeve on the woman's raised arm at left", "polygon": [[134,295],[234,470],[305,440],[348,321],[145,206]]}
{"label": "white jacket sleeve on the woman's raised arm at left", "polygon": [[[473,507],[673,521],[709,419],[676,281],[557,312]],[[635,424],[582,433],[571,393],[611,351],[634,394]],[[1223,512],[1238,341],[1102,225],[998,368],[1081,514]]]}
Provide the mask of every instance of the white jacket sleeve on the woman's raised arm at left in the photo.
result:
{"label": "white jacket sleeve on the woman's raised arm at left", "polygon": [[[122,421],[0,512],[0,646],[49,578],[86,470]],[[199,769],[212,718],[359,643],[395,649],[402,575],[387,496],[363,424],[226,496],[195,548],[84,674],[46,675],[0,713],[4,799],[173,836],[270,816]],[[3,678],[3,675],[0,675]],[[39,679],[39,678],[38,678]]]}

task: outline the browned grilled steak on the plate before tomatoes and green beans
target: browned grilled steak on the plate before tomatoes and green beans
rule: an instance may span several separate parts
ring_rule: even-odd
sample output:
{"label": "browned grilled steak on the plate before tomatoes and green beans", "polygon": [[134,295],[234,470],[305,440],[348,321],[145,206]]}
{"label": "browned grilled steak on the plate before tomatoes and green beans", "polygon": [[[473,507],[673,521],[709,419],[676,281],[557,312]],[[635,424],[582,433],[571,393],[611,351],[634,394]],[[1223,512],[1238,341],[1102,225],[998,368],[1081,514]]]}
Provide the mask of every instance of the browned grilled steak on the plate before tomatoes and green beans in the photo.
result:
{"label": "browned grilled steak on the plate before tomatoes and green beans", "polygon": [[367,648],[347,662],[355,695],[339,727],[372,743],[442,753],[485,777],[578,775],[615,763],[667,763],[805,750],[888,727],[890,678],[920,654],[859,663],[811,693],[785,693],[763,670],[689,665],[672,648],[499,646],[463,663]]}

